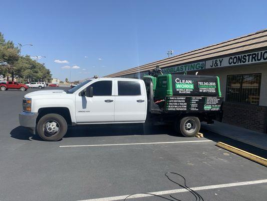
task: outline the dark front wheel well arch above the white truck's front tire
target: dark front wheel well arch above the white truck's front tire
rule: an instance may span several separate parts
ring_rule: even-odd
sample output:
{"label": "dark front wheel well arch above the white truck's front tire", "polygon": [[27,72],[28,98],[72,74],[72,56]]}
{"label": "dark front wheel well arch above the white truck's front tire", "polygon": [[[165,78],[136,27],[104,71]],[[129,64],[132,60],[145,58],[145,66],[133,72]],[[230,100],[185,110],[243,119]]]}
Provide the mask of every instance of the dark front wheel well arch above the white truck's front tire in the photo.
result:
{"label": "dark front wheel well arch above the white truck's front tire", "polygon": [[71,114],[70,114],[70,111],[68,108],[61,108],[61,107],[51,107],[51,108],[40,108],[38,110],[38,117],[37,117],[37,120],[36,120],[36,123],[39,122],[39,120],[47,115],[47,114],[51,114],[51,113],[54,113],[54,114],[59,114],[61,115],[62,117],[64,117],[64,119],[66,120],[67,124],[71,125],[72,124],[72,121],[71,121]]}

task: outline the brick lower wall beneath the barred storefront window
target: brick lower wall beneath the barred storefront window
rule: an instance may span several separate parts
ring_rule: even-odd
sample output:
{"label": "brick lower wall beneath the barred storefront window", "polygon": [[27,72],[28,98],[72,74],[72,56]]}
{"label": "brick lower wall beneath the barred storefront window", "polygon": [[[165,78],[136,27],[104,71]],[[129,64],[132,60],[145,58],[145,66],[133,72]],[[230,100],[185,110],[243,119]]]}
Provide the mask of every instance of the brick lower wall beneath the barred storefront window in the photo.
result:
{"label": "brick lower wall beneath the barred storefront window", "polygon": [[222,122],[266,133],[267,107],[240,103],[223,103]]}

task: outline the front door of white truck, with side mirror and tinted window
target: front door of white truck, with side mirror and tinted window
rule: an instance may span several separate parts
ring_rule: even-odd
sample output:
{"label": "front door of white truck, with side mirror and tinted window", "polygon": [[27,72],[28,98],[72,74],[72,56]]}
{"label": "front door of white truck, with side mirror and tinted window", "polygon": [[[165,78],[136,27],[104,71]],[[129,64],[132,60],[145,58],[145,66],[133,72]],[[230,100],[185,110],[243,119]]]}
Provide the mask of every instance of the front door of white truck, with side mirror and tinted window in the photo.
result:
{"label": "front door of white truck, with side mirror and tinted window", "polygon": [[77,123],[114,122],[114,80],[99,80],[90,86],[93,97],[81,96],[81,92],[76,95]]}

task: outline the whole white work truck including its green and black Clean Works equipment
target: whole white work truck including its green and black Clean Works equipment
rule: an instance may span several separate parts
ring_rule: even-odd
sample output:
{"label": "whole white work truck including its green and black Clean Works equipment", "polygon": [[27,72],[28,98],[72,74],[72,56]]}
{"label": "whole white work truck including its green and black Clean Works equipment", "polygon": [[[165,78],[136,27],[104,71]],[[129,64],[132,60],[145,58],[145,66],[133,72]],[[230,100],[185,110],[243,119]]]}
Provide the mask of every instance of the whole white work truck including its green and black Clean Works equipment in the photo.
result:
{"label": "whole white work truck including its green and black Clean Works equipment", "polygon": [[[195,136],[200,129],[200,121],[212,123],[212,118],[220,110],[222,97],[214,95],[220,94],[219,82],[201,83],[203,86],[213,84],[211,89],[216,89],[213,96],[186,96],[195,85],[178,86],[171,78],[172,75],[145,76],[143,80],[97,78],[65,91],[31,92],[23,98],[20,124],[33,133],[37,130],[39,136],[47,141],[63,138],[68,125],[146,121],[171,123],[182,135]],[[173,84],[175,90],[171,89]],[[176,91],[176,86],[189,87],[190,90],[179,89],[179,92],[183,91],[181,95]],[[194,92],[200,93],[199,90]]]}

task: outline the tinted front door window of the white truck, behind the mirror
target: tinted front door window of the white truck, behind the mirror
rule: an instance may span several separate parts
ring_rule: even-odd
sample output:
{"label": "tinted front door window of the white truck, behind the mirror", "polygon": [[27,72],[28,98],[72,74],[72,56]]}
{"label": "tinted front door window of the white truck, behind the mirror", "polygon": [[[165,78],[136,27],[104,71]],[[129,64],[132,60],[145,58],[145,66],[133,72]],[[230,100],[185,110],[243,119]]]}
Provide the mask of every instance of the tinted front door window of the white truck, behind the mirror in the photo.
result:
{"label": "tinted front door window of the white truck, behind the mirror", "polygon": [[112,93],[112,81],[98,81],[90,86],[93,86],[93,95],[111,95]]}

